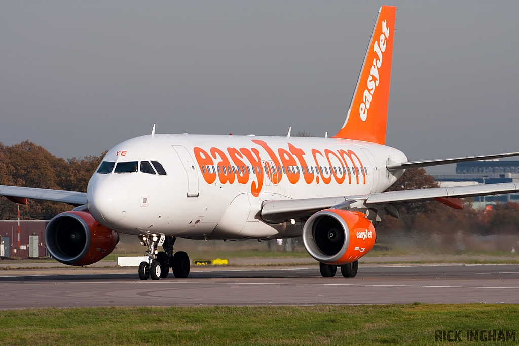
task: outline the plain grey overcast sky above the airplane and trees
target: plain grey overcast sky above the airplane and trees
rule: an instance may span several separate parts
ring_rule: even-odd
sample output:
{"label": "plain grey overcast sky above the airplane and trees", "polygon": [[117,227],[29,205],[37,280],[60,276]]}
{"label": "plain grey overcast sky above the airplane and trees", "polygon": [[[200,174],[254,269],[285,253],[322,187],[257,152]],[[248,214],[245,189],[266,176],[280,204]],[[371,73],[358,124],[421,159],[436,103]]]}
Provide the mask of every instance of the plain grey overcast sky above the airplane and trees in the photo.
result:
{"label": "plain grey overcast sky above the airplane and trees", "polygon": [[[386,144],[413,160],[519,151],[519,2],[392,3]],[[381,4],[2,1],[0,142],[70,158],[154,123],[333,135]]]}

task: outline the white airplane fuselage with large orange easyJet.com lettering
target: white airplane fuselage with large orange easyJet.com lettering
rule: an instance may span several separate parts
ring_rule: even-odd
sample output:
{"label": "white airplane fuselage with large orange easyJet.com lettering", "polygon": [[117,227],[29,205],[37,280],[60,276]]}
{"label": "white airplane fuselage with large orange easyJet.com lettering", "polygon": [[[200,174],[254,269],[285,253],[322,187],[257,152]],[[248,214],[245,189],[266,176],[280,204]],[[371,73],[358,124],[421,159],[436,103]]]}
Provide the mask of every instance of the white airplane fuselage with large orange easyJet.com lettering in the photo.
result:
{"label": "white airplane fuselage with large orange easyJet.com lettering", "polygon": [[[263,222],[263,200],[381,192],[403,173],[389,174],[386,164],[407,158],[388,146],[335,138],[156,134],[116,145],[103,161],[139,167],[90,179],[88,209],[108,228],[268,239],[299,236],[303,225]],[[142,172],[142,161],[159,162],[167,174]]]}

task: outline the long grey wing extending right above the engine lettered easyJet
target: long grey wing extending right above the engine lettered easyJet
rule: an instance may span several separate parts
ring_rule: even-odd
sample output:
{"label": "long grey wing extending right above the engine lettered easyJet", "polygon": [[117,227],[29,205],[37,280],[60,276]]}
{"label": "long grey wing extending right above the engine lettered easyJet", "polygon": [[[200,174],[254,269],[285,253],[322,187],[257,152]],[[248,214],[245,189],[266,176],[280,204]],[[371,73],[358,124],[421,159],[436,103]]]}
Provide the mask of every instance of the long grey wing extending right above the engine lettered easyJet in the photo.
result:
{"label": "long grey wing extending right above the engine lettered easyJet", "polygon": [[[369,193],[358,196],[268,200],[262,203],[261,216],[265,222],[288,222],[293,218],[310,216],[330,207],[344,209],[348,205],[361,202],[367,208],[377,205],[398,202],[440,201],[452,207],[458,207],[459,198],[498,195],[519,191],[519,184],[491,184],[476,186],[455,186],[449,188],[419,189],[407,191],[391,191]],[[459,209],[459,208],[458,208]]]}

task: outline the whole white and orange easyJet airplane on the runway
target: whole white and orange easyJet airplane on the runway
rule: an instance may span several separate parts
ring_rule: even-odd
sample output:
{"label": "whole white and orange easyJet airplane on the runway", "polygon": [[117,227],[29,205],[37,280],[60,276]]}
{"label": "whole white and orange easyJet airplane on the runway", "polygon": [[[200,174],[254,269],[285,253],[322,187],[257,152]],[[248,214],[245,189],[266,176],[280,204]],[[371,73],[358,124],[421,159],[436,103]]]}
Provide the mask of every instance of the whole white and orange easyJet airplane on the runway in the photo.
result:
{"label": "whole white and orange easyJet airplane on the runway", "polygon": [[[396,7],[382,6],[346,120],[330,138],[152,133],[122,142],[103,158],[87,192],[0,186],[16,203],[41,199],[75,208],[45,230],[49,253],[71,266],[110,254],[124,232],[139,237],[141,280],[189,274],[175,240],[269,240],[302,236],[324,277],[356,276],[373,248],[375,226],[398,217],[395,204],[511,193],[519,184],[383,192],[406,169],[517,156],[519,153],[409,161],[386,146]],[[164,251],[159,251],[162,246]]]}

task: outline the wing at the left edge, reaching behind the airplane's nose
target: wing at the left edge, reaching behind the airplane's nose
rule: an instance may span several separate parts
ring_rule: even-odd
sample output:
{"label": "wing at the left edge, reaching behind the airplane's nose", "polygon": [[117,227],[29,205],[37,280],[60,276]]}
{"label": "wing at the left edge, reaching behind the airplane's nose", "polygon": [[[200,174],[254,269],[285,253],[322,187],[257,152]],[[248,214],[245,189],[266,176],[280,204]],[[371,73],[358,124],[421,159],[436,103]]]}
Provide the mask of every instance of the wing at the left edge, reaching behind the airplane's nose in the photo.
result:
{"label": "wing at the left edge, reaching behind the airplane's nose", "polygon": [[87,204],[86,192],[47,190],[30,187],[0,185],[0,196],[5,196],[9,200],[20,204],[27,204],[28,198],[64,202],[75,206]]}

